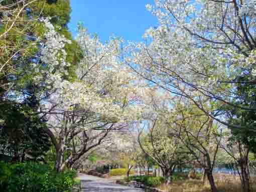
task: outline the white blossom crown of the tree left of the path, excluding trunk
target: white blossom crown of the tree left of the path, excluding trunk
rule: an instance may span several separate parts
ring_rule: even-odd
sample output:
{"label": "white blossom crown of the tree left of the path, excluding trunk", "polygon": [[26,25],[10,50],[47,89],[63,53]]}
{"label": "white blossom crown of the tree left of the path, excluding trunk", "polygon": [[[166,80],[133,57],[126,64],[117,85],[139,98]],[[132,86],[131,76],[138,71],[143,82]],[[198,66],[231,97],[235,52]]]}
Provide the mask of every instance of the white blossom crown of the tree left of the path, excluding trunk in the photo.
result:
{"label": "white blossom crown of the tree left of the path, excluding trunk", "polygon": [[[49,25],[48,29],[51,27]],[[129,123],[140,118],[141,108],[135,103],[141,97],[133,83],[136,77],[120,61],[121,40],[112,38],[102,44],[97,37],[79,28],[76,41],[81,48],[82,59],[76,64],[77,79],[68,81],[62,78],[62,72],[69,65],[64,61],[63,50],[65,43],[69,42],[51,29],[47,37],[55,43],[46,41],[42,60],[49,68],[54,68],[54,73],[47,74],[46,82],[55,92],[45,109],[56,105],[55,111],[72,111],[79,105],[85,116],[91,114],[90,119],[104,117],[114,119],[115,123]]]}

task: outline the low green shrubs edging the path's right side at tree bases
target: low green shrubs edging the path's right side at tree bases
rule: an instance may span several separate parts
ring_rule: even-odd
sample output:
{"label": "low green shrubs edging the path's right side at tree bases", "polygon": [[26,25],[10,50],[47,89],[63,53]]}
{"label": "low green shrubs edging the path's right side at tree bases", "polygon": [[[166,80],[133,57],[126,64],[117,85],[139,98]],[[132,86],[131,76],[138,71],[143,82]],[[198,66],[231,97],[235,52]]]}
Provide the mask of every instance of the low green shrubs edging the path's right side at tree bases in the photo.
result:
{"label": "low green shrubs edging the path's right side at tree bases", "polygon": [[148,186],[158,186],[165,181],[162,176],[129,176],[124,178],[125,181],[136,180],[138,182],[143,182]]}

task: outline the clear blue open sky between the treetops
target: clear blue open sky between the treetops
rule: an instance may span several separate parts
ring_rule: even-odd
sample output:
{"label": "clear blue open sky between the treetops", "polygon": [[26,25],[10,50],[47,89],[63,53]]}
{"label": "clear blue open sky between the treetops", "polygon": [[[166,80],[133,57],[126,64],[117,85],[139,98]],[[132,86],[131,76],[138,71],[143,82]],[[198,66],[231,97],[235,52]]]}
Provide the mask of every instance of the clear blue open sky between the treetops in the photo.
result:
{"label": "clear blue open sky between the treetops", "polygon": [[83,22],[101,41],[112,35],[142,41],[145,30],[157,25],[146,4],[154,4],[154,0],[71,0],[69,30],[75,37],[77,23]]}

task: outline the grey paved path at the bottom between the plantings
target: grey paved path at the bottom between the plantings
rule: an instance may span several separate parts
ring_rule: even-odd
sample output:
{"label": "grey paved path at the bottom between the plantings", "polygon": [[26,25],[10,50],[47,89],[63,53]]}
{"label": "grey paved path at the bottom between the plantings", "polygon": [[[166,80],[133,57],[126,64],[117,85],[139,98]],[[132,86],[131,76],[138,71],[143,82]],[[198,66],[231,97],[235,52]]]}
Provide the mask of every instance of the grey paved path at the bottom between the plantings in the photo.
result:
{"label": "grey paved path at the bottom between the plantings", "polygon": [[82,192],[143,192],[143,189],[133,188],[120,184],[113,183],[113,181],[100,178],[92,175],[79,173],[81,179]]}

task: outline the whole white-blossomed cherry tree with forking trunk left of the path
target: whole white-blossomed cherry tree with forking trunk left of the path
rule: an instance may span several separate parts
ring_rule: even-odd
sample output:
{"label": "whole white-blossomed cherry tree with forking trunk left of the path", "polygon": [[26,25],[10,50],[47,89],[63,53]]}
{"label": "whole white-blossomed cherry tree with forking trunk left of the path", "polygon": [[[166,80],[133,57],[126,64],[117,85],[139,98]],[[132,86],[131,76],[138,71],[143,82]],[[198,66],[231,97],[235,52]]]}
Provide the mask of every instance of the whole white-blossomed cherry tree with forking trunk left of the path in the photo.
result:
{"label": "whole white-blossomed cherry tree with forking trunk left of the path", "polygon": [[[139,97],[136,85],[131,83],[135,77],[118,59],[121,42],[113,38],[102,44],[81,26],[76,39],[82,50],[77,79],[63,79],[65,67],[70,65],[65,62],[63,47],[69,42],[56,34],[47,21],[46,24],[49,41],[44,44],[41,59],[48,64],[50,73],[42,69],[40,74],[53,91],[42,103],[40,113],[48,119],[45,132],[56,148],[55,168],[61,171],[108,141],[111,131],[127,127],[130,121],[139,118],[139,106],[134,104]],[[72,145],[74,139],[80,140],[80,145]],[[69,147],[72,152],[64,159]]]}

